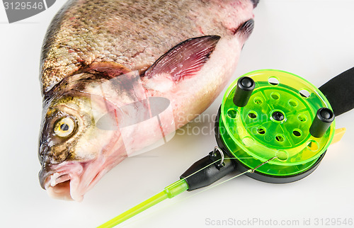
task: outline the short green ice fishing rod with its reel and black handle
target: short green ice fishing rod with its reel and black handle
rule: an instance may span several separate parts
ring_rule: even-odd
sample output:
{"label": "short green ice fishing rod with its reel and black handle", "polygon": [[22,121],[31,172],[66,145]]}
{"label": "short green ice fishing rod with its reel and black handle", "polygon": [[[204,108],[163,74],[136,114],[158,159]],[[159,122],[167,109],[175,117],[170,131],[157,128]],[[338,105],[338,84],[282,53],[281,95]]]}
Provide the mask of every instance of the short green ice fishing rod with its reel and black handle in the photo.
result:
{"label": "short green ice fishing rod with its reel and black handle", "polygon": [[[258,181],[290,183],[312,173],[346,132],[335,116],[354,106],[354,68],[319,89],[290,72],[262,69],[234,81],[215,120],[217,147],[178,181],[105,222],[116,225],[185,190],[209,186],[233,171]],[[237,177],[235,176],[235,177]]]}

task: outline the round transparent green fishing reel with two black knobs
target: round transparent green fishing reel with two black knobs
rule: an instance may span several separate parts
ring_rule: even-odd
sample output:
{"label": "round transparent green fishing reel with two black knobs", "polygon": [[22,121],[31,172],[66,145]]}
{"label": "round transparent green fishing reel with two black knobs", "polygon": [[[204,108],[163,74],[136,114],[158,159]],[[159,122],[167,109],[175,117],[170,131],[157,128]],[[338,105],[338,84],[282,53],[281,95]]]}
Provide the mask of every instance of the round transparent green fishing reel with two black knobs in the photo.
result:
{"label": "round transparent green fishing reel with two black knobs", "polygon": [[316,86],[280,70],[241,76],[227,89],[215,123],[217,144],[239,171],[269,183],[312,173],[335,132],[334,114]]}

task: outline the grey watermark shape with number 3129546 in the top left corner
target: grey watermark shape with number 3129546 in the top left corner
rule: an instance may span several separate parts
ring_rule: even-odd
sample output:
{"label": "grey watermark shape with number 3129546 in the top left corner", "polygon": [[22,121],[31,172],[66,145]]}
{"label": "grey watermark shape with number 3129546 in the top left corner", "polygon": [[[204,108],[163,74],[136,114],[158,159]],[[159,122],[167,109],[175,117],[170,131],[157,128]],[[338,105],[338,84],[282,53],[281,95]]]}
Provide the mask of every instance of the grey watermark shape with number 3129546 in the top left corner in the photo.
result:
{"label": "grey watermark shape with number 3129546 in the top left corner", "polygon": [[8,23],[34,16],[55,4],[55,0],[3,0]]}

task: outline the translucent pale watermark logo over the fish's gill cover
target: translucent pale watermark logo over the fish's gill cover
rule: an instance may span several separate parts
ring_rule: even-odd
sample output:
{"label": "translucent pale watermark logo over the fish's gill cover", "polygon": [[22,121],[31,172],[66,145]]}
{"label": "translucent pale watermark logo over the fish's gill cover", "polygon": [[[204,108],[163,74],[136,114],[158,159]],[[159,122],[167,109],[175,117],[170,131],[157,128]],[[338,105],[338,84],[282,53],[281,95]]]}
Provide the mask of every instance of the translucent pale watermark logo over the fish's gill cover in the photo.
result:
{"label": "translucent pale watermark logo over the fish's gill cover", "polygon": [[93,83],[91,88],[91,110],[96,127],[119,135],[127,156],[160,147],[176,132],[170,100],[148,96],[142,84],[139,72],[134,71],[103,83]]}

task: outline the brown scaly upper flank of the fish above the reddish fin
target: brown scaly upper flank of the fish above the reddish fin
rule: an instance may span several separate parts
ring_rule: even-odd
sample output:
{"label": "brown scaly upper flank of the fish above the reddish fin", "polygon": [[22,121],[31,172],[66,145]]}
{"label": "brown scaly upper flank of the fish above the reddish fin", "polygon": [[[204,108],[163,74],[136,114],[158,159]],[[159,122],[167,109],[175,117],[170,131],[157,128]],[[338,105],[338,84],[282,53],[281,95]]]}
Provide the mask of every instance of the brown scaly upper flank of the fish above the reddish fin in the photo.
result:
{"label": "brown scaly upper flank of the fish above the reddish fin", "polygon": [[[249,1],[239,1],[241,9]],[[219,1],[69,1],[52,21],[42,52],[42,90],[93,62],[136,70],[182,40],[225,35]],[[202,16],[200,16],[202,15]],[[240,18],[244,21],[244,18]],[[124,44],[124,45],[122,45]]]}

